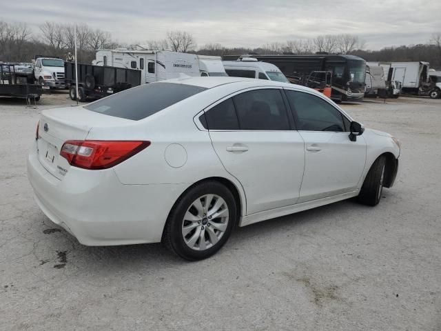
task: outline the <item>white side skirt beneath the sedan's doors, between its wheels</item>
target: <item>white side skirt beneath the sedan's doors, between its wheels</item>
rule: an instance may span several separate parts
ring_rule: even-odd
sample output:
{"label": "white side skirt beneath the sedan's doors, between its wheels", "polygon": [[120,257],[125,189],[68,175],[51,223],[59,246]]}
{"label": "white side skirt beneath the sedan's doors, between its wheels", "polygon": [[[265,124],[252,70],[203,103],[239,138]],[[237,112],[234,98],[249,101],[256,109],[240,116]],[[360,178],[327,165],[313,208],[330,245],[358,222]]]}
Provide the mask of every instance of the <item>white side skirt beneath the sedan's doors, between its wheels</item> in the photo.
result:
{"label": "white side skirt beneath the sedan's doors, between its wheels", "polygon": [[307,201],[303,203],[296,203],[295,205],[287,205],[282,208],[275,208],[271,210],[265,210],[264,212],[256,212],[255,214],[247,215],[242,217],[239,222],[239,226],[245,226],[252,223],[258,223],[261,221],[265,221],[267,219],[274,219],[276,217],[282,217],[289,214],[294,214],[295,212],[302,212],[303,210],[308,210],[316,207],[320,207],[320,205],[327,205],[329,203],[334,203],[337,201],[349,199],[352,197],[356,197],[360,190],[355,190],[343,194],[334,195],[332,197],[326,197],[322,199],[317,199],[313,201]]}

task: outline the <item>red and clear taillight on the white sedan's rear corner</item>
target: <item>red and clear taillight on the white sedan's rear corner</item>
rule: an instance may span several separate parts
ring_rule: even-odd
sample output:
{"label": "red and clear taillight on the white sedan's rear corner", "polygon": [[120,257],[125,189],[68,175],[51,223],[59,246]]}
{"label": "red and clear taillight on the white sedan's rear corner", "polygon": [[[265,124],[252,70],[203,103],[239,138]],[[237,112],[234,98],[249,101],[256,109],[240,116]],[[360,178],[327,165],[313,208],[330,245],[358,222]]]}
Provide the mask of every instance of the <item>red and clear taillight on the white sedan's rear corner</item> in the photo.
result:
{"label": "red and clear taillight on the white sedan's rear corner", "polygon": [[60,155],[74,167],[99,170],[112,168],[150,146],[150,141],[68,140]]}

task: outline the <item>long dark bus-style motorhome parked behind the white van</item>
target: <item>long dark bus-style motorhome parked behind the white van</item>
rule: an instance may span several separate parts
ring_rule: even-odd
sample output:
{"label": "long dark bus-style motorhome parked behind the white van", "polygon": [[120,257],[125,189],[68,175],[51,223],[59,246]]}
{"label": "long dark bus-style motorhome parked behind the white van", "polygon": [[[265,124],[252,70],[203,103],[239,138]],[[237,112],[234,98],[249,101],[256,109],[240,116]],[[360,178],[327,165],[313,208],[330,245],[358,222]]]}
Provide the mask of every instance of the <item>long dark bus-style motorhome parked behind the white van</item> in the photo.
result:
{"label": "long dark bus-style motorhome parked behind the white van", "polygon": [[285,76],[306,85],[311,72],[332,72],[331,99],[362,101],[365,96],[366,61],[353,55],[226,55],[223,60],[254,57],[277,66]]}

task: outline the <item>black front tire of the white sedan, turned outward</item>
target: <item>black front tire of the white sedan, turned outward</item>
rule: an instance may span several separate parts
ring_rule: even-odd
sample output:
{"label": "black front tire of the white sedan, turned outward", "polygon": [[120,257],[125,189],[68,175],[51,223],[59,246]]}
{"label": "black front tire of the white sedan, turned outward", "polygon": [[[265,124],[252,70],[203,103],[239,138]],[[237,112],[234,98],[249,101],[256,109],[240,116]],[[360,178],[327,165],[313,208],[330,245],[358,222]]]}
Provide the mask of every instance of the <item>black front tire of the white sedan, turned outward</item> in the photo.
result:
{"label": "black front tire of the white sedan, turned outward", "polygon": [[358,194],[360,203],[373,206],[380,202],[385,170],[386,159],[384,156],[380,156],[373,162],[363,182],[360,194]]}

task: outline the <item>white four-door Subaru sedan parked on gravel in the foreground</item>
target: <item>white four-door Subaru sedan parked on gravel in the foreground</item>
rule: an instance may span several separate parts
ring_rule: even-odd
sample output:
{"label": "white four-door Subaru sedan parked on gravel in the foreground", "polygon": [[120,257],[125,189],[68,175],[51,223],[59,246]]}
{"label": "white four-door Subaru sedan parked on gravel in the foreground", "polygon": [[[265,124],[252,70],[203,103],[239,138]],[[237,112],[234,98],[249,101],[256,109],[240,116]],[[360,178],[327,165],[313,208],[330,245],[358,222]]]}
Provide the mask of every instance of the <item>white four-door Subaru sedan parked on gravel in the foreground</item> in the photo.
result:
{"label": "white four-door Subaru sedan parked on gravel in the foreground", "polygon": [[28,178],[84,245],[163,241],[196,260],[236,224],[351,197],[376,205],[399,156],[396,138],[309,88],[194,77],[44,110]]}

